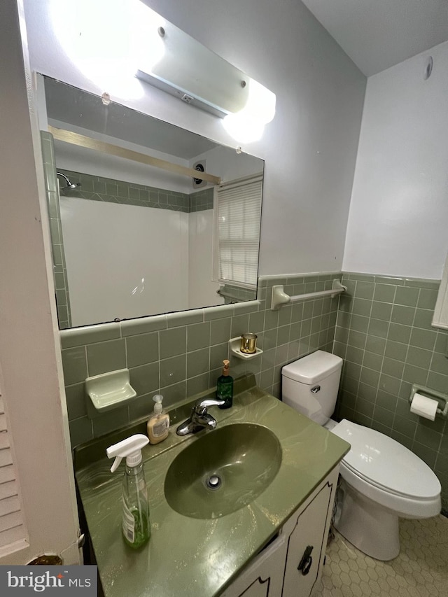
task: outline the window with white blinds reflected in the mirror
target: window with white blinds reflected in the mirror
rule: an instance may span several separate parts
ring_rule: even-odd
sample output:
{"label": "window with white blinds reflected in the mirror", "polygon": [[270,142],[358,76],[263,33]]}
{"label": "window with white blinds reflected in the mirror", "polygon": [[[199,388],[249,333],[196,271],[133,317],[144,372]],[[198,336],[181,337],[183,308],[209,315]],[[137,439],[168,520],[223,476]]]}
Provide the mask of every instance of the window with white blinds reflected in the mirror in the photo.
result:
{"label": "window with white blinds reflected in the mirror", "polygon": [[225,183],[215,193],[216,278],[256,288],[262,174]]}

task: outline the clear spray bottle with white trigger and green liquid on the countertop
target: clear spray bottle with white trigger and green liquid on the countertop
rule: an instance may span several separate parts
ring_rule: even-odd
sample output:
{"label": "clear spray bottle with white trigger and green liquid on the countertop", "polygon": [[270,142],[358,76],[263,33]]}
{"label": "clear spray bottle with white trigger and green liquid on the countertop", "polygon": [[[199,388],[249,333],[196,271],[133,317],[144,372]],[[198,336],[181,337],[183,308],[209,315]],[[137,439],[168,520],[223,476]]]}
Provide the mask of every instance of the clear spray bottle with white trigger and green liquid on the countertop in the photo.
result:
{"label": "clear spray bottle with white trigger and green liquid on the countertop", "polygon": [[145,545],[151,535],[148,489],[141,460],[141,449],[146,444],[148,437],[139,433],[106,450],[108,458],[116,457],[111,472],[115,472],[121,459],[126,458],[121,526],[125,542],[134,549]]}

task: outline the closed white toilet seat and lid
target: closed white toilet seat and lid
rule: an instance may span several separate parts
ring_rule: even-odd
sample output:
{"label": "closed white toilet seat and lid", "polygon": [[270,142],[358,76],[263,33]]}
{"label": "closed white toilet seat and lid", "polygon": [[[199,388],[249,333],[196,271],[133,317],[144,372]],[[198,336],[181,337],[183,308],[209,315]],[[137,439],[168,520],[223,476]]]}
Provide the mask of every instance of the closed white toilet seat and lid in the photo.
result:
{"label": "closed white toilet seat and lid", "polygon": [[346,419],[331,431],[351,444],[340,472],[354,489],[400,517],[431,517],[440,512],[439,479],[413,452]]}

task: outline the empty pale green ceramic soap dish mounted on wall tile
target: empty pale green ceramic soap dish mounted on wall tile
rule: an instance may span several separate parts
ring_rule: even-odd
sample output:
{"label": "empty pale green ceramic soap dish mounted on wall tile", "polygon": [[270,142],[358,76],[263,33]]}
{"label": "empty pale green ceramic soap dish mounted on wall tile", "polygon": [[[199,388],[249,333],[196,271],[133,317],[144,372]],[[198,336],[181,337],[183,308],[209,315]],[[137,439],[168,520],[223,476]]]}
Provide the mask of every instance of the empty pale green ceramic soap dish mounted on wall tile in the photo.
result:
{"label": "empty pale green ceramic soap dish mounted on wall tile", "polygon": [[[130,384],[129,369],[87,377],[85,391],[94,407],[94,414],[123,406],[137,396],[137,392]],[[92,412],[91,409],[87,409],[87,413],[89,412]]]}

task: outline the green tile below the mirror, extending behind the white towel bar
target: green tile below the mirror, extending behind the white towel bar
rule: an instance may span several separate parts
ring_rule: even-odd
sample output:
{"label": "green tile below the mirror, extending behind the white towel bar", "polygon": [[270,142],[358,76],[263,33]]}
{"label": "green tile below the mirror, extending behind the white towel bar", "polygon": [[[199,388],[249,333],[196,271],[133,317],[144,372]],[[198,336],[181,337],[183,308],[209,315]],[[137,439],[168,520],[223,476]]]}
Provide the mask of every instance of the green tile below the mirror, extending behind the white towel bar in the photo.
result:
{"label": "green tile below the mirror, extending behind the white towel bar", "polygon": [[[311,276],[264,277],[258,300],[194,311],[62,330],[62,363],[73,446],[127,423],[148,417],[151,398],[165,396],[167,406],[216,386],[228,341],[243,332],[258,335],[262,355],[230,358],[234,377],[253,372],[258,385],[280,396],[281,367],[317,349],[331,351],[338,298],[297,302],[270,309],[272,286],[290,295],[331,288],[340,272]],[[137,398],[130,405],[89,419],[84,380],[128,367]]]}

